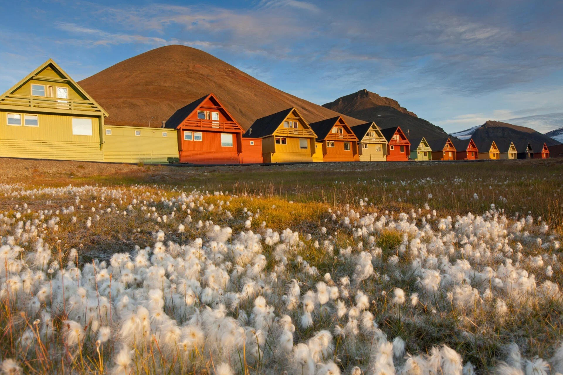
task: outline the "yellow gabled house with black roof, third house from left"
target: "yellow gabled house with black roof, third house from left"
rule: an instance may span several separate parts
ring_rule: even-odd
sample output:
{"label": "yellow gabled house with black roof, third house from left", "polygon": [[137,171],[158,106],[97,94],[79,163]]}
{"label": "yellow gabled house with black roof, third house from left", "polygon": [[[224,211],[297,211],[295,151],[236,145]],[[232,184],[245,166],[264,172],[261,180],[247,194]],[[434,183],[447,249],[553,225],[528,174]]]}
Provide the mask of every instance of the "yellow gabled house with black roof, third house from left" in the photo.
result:
{"label": "yellow gabled house with black roof, third house from left", "polygon": [[244,137],[262,139],[265,163],[313,161],[316,134],[295,107],[254,121]]}

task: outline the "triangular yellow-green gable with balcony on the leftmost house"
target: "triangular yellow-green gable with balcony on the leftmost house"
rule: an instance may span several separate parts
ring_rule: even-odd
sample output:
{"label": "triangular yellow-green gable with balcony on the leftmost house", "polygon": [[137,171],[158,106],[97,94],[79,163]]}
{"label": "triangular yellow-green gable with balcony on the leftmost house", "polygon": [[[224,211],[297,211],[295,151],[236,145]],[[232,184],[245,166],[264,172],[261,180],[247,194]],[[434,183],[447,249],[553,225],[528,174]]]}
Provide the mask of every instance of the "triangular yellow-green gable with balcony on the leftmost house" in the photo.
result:
{"label": "triangular yellow-green gable with balcony on the leftmost house", "polygon": [[108,114],[53,60],[47,60],[0,96],[0,109],[45,113]]}

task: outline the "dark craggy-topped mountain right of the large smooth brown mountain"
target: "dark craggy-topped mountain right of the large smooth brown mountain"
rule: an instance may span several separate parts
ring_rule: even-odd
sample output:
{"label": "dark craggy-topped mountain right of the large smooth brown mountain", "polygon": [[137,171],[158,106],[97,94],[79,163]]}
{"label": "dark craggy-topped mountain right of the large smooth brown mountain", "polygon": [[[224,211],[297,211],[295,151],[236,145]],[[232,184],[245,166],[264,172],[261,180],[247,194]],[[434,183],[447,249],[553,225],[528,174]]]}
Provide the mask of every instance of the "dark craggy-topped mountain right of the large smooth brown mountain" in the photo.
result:
{"label": "dark craggy-topped mountain right of the large smooth brown mountain", "polygon": [[365,122],[375,121],[382,129],[400,126],[410,138],[425,137],[430,141],[448,137],[444,129],[418,118],[413,112],[401,107],[397,101],[365,89],[326,103],[323,107]]}

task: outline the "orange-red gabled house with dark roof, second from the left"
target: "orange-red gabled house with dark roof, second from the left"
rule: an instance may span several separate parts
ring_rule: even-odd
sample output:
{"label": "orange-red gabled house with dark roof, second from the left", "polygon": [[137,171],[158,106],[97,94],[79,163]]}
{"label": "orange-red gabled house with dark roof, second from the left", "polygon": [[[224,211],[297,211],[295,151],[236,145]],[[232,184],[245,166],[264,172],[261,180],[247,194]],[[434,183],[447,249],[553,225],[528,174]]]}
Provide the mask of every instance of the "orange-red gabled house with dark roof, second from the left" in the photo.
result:
{"label": "orange-red gabled house with dark roof, second from the left", "polygon": [[240,163],[244,131],[212,93],[177,110],[164,127],[178,130],[180,162]]}

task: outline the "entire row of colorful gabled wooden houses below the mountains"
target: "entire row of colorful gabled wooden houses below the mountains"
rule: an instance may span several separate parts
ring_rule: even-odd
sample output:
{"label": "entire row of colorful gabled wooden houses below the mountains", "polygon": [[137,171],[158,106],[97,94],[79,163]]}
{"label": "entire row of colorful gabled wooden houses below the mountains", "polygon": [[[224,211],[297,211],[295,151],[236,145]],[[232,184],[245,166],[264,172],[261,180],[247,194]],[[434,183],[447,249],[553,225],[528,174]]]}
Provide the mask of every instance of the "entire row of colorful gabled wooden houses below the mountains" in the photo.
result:
{"label": "entire row of colorful gabled wooden houses below the mountains", "polygon": [[526,159],[544,144],[408,139],[399,126],[348,126],[342,116],[309,123],[296,107],[244,130],[212,93],[159,128],[107,125],[108,114],[48,60],[0,97],[0,156],[108,162],[275,162]]}

